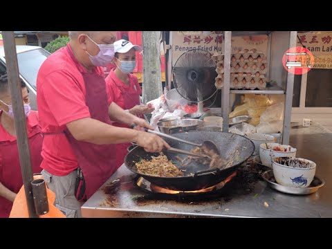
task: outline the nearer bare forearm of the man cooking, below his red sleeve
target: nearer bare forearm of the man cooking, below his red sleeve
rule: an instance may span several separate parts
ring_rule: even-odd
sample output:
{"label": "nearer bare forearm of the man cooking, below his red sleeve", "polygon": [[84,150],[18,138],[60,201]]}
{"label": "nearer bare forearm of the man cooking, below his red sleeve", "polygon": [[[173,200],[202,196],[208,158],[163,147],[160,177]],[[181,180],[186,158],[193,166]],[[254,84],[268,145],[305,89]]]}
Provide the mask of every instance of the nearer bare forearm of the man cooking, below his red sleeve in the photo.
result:
{"label": "nearer bare forearm of the man cooking, below his red sleeve", "polygon": [[113,127],[93,118],[82,118],[69,122],[67,127],[76,140],[91,142],[96,145],[136,142],[140,132],[133,129]]}

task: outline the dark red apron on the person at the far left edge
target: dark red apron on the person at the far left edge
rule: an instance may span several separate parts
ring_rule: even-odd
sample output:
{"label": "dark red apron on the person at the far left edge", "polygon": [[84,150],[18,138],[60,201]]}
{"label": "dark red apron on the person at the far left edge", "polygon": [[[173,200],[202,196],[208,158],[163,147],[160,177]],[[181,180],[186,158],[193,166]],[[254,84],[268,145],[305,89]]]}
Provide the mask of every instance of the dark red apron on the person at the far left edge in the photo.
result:
{"label": "dark red apron on the person at the far left edge", "polygon": [[[33,173],[40,173],[42,168],[42,131],[38,125],[29,134],[31,165]],[[17,141],[0,142],[0,182],[12,192],[18,193],[23,185],[21,166],[19,163],[19,149]],[[0,196],[0,218],[9,217],[12,202]]]}

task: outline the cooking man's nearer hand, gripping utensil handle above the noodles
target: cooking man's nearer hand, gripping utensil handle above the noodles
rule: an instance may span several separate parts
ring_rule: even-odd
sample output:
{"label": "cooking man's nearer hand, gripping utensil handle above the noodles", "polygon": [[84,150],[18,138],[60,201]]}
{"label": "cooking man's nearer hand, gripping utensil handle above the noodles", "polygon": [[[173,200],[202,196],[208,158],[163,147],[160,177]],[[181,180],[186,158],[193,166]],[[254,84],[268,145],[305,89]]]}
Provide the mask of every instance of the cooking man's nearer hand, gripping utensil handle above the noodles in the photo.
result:
{"label": "cooking man's nearer hand, gripping utensil handle above the noodles", "polygon": [[170,146],[159,136],[144,131],[138,131],[136,143],[143,147],[147,152],[160,152],[165,147],[168,149]]}

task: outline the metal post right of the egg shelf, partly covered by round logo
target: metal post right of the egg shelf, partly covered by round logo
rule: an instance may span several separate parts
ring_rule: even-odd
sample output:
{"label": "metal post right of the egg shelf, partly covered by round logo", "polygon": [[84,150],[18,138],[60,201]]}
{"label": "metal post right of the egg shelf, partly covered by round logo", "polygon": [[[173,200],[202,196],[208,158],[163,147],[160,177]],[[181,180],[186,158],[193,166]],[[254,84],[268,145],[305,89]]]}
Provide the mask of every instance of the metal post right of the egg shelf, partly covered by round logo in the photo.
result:
{"label": "metal post right of the egg shelf, partly covered by round logo", "polygon": [[[297,31],[291,31],[289,37],[289,48],[296,46]],[[287,73],[286,84],[286,102],[284,111],[284,129],[282,131],[282,143],[288,145],[289,136],[291,134],[291,116],[292,116],[292,104],[293,104],[293,87],[294,87],[294,75],[293,73]]]}

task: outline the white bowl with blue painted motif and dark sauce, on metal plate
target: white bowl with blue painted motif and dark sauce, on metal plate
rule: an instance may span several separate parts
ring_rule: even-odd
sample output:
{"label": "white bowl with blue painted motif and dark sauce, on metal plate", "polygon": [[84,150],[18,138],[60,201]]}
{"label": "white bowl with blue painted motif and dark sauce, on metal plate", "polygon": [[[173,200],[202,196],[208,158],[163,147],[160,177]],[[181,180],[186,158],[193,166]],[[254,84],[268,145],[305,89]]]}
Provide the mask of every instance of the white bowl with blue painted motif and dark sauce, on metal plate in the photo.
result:
{"label": "white bowl with blue painted motif and dark sauce, on metal plate", "polygon": [[286,187],[308,187],[313,181],[316,164],[304,158],[274,158],[275,181]]}

